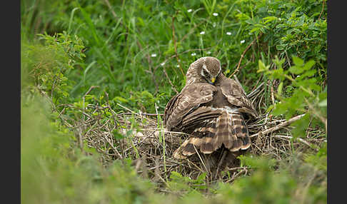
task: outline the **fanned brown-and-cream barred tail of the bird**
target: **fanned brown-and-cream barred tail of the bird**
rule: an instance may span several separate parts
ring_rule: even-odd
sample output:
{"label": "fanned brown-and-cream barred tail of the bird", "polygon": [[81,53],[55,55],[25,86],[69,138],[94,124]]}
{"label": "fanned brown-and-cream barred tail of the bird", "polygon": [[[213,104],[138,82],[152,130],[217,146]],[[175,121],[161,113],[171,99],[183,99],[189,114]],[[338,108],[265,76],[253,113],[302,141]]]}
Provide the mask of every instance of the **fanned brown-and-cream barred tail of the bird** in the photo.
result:
{"label": "fanned brown-and-cream barred tail of the bird", "polygon": [[[203,117],[205,120],[200,124],[195,123],[195,128],[188,138],[175,151],[175,158],[186,158],[193,155],[197,150],[209,154],[216,151],[222,144],[229,151],[244,150],[251,146],[248,136],[248,128],[243,116],[238,111],[227,109],[220,110],[219,116],[214,118]],[[197,118],[196,118],[197,119]]]}

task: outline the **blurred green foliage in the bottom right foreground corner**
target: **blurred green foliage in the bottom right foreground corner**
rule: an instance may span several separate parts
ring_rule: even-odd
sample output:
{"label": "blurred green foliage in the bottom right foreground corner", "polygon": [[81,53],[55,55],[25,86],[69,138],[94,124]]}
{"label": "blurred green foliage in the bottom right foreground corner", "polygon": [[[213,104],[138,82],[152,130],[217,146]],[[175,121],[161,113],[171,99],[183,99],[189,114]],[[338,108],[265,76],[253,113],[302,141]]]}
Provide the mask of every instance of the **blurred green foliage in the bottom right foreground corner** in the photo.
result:
{"label": "blurred green foliage in the bottom right foreground corner", "polygon": [[[238,178],[232,185],[219,183],[220,203],[326,203],[326,183],[311,183],[318,174],[314,168],[297,158],[281,161],[281,170],[274,171],[273,160],[243,156],[244,165],[253,167],[251,176]],[[270,164],[270,165],[269,165]],[[311,181],[310,181],[311,179]]]}

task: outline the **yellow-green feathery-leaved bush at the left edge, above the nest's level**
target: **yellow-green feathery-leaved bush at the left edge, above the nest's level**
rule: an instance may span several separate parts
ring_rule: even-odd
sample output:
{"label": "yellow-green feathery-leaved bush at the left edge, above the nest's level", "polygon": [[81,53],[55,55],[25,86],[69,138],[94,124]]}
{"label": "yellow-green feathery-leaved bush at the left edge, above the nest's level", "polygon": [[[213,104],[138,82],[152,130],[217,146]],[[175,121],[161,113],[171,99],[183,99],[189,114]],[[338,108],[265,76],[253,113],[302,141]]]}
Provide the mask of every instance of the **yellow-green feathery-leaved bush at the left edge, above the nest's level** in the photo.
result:
{"label": "yellow-green feathery-leaved bush at the left edge, above the nest's level", "polygon": [[[23,44],[23,75],[54,103],[66,101],[73,81],[66,76],[85,58],[84,44],[77,36],[39,34],[44,44]],[[27,80],[26,80],[27,81]],[[25,81],[24,81],[25,82]],[[26,83],[22,84],[22,88]],[[33,86],[31,86],[33,88]]]}

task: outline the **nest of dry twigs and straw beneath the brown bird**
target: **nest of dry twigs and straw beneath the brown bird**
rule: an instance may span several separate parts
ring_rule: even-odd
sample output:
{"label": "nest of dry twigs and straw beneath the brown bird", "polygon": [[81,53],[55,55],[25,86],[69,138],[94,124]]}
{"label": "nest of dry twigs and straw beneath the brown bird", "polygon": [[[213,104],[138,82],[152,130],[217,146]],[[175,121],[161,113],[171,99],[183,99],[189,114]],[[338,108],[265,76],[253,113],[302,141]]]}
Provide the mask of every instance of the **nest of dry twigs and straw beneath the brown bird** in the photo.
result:
{"label": "nest of dry twigs and straw beneath the brown bird", "polygon": [[[256,88],[248,97],[257,98],[262,91],[263,89]],[[264,103],[262,98],[260,101],[253,99],[253,103],[261,105]],[[135,113],[129,108],[121,107],[124,108],[124,113],[116,113],[111,106],[89,104],[87,108],[94,110],[93,113],[83,113],[81,120],[74,125],[79,143],[87,141],[89,148],[95,148],[101,153],[104,165],[109,165],[114,160],[131,158],[139,174],[163,185],[172,171],[192,179],[207,172],[208,183],[216,180],[231,182],[239,175],[248,173],[247,167],[239,166],[237,156],[240,154],[270,155],[282,160],[291,154],[292,148],[306,151],[325,140],[323,136],[319,136],[319,132],[310,134],[312,130],[308,129],[307,138],[291,141],[291,130],[286,127],[290,121],[263,113],[256,121],[247,122],[252,145],[246,151],[231,153],[222,147],[210,155],[198,152],[186,159],[177,160],[173,157],[174,151],[188,138],[187,134],[166,131],[160,119],[162,114]],[[106,117],[105,110],[112,115]],[[124,138],[117,138],[117,135]],[[82,145],[81,148],[83,149]]]}

